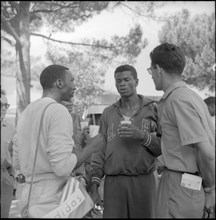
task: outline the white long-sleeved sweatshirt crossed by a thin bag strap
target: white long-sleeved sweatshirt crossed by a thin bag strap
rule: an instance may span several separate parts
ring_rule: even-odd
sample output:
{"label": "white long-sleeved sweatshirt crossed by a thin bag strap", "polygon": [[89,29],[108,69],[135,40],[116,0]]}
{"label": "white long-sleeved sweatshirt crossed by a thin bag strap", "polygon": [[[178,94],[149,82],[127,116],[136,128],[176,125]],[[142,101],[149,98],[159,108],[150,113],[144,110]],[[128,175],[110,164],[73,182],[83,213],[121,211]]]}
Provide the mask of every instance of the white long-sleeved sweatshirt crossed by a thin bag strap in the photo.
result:
{"label": "white long-sleeved sweatshirt crossed by a thin bag strap", "polygon": [[[42,127],[39,124],[45,110]],[[77,163],[74,147],[73,123],[68,110],[52,98],[45,97],[29,104],[23,111],[14,138],[14,167],[30,182],[35,150],[38,152],[34,182],[44,179],[67,179]]]}

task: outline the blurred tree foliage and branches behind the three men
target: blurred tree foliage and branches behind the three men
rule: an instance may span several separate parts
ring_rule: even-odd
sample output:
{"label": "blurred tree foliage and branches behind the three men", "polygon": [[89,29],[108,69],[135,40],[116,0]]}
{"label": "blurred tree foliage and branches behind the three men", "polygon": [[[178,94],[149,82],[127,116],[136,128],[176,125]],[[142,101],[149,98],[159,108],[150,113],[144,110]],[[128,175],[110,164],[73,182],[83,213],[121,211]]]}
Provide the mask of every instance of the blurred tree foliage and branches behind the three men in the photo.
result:
{"label": "blurred tree foliage and branches behind the three men", "polygon": [[[58,63],[71,69],[76,76],[75,112],[82,114],[86,106],[100,103],[107,69],[135,63],[148,45],[138,23],[126,36],[114,35],[110,40],[88,36],[79,42],[57,40],[52,37],[55,33],[72,33],[93,16],[117,7],[157,20],[155,9],[164,4],[140,2],[140,7],[132,9],[118,1],[1,1],[1,44],[7,44],[1,50],[1,73],[17,78],[17,116],[31,101],[31,80],[38,80],[47,65]],[[31,36],[44,39],[45,56],[31,53]],[[188,84],[215,91],[215,13],[191,17],[182,10],[163,21],[158,37],[160,43],[172,42],[183,49],[187,57],[183,79]]]}

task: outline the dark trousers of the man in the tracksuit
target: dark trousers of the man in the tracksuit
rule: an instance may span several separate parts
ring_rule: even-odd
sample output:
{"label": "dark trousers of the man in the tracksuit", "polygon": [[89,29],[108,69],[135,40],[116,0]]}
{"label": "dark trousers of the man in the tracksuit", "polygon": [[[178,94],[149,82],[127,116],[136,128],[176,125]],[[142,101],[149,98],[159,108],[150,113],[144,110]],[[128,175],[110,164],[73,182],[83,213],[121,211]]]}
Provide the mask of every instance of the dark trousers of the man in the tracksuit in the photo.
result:
{"label": "dark trousers of the man in the tracksuit", "polygon": [[154,218],[155,202],[153,173],[105,177],[104,218]]}

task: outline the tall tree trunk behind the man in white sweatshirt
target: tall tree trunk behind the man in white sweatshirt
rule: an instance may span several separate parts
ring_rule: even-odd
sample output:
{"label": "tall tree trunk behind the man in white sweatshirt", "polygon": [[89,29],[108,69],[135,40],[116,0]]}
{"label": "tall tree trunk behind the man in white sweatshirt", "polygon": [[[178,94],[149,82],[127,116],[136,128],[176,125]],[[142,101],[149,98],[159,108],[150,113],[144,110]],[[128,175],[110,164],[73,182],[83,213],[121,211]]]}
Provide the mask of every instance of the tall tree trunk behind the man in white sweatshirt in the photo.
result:
{"label": "tall tree trunk behind the man in white sweatshirt", "polygon": [[19,38],[21,44],[16,44],[17,54],[17,77],[16,77],[16,91],[17,91],[17,118],[30,103],[30,34],[29,34],[29,10],[30,2],[20,2],[19,5]]}

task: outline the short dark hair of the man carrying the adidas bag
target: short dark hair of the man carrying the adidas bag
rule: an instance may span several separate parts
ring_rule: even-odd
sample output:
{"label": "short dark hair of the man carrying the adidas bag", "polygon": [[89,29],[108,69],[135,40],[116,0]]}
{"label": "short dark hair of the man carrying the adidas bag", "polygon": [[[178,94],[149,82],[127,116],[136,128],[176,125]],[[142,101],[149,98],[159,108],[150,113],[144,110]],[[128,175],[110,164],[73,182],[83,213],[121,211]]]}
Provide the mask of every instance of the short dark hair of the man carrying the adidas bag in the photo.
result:
{"label": "short dark hair of the man carrying the adidas bag", "polygon": [[40,75],[40,84],[43,89],[48,89],[53,87],[53,83],[61,78],[65,77],[65,71],[69,68],[61,65],[50,65],[47,66]]}

